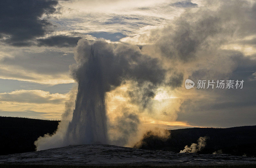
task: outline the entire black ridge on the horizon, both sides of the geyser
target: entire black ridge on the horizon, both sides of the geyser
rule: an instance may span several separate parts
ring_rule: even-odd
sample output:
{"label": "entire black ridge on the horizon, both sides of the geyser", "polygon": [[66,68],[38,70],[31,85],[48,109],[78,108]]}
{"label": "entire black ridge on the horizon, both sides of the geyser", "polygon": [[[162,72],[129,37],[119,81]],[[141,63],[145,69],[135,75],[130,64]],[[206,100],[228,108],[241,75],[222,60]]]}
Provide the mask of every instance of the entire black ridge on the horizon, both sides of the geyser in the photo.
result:
{"label": "entire black ridge on the horizon, both sides of the geyser", "polygon": [[[35,151],[34,141],[46,133],[53,133],[59,121],[19,117],[0,117],[0,155]],[[200,136],[208,136],[205,148],[199,153],[222,150],[225,154],[256,156],[256,126],[233,128],[186,128],[169,130],[166,141],[157,136],[144,136],[140,149],[180,152],[186,145],[196,143]]]}

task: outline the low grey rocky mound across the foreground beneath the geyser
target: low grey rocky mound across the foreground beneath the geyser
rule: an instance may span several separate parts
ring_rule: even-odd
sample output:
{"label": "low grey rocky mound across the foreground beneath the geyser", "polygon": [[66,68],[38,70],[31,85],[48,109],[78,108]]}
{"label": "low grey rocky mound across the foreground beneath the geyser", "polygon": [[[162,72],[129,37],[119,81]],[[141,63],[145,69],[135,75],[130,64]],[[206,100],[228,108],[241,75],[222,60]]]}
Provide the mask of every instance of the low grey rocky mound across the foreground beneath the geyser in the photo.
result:
{"label": "low grey rocky mound across the foreground beneath the geyser", "polygon": [[113,145],[69,145],[62,148],[0,156],[1,164],[256,164],[256,158],[227,154],[174,153]]}

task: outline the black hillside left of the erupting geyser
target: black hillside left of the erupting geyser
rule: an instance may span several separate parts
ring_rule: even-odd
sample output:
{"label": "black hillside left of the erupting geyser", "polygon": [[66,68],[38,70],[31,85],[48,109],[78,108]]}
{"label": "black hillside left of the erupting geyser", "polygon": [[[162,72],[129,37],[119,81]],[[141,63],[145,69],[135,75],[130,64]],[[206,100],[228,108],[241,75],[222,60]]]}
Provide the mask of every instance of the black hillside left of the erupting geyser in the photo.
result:
{"label": "black hillside left of the erupting geyser", "polygon": [[34,141],[54,132],[58,122],[0,116],[0,155],[35,151]]}

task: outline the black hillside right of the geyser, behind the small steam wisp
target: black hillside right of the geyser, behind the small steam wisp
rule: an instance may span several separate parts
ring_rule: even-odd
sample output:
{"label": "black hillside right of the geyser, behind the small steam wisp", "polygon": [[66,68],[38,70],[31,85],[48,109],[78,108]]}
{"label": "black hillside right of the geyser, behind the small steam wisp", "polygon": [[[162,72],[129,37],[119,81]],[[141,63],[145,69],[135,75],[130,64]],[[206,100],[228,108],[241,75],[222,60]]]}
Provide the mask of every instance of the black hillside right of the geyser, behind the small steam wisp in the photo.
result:
{"label": "black hillside right of the geyser, behind the small steam wisp", "polygon": [[201,154],[222,150],[222,153],[236,156],[256,157],[256,126],[233,128],[186,128],[170,130],[171,137],[161,140],[159,137],[145,135],[140,149],[169,150],[180,152],[186,145],[196,143],[200,136],[208,136]]}

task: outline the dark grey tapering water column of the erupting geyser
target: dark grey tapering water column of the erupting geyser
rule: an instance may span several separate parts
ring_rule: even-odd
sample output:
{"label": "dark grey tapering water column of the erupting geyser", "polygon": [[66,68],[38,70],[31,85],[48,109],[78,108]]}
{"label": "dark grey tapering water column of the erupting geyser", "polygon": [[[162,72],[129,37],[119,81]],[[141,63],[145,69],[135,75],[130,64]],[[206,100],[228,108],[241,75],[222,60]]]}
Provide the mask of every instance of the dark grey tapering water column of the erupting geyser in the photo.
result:
{"label": "dark grey tapering water column of the erupting geyser", "polygon": [[97,51],[91,46],[88,60],[80,64],[80,70],[76,71],[76,107],[66,135],[72,144],[108,143],[105,90],[99,59]]}

